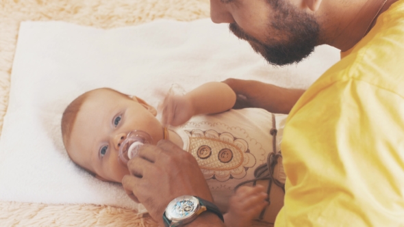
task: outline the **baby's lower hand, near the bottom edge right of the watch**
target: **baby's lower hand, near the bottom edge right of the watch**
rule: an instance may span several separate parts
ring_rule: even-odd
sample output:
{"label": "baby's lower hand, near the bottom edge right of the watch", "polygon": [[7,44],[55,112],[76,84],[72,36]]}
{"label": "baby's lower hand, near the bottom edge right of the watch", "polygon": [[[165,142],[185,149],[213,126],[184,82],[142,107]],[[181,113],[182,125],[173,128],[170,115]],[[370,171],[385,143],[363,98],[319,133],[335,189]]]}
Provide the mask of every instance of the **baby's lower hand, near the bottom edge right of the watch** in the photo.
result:
{"label": "baby's lower hand, near the bottom edge right of the watch", "polygon": [[239,187],[229,200],[229,212],[224,215],[226,226],[251,226],[254,217],[268,205],[267,198],[262,185]]}

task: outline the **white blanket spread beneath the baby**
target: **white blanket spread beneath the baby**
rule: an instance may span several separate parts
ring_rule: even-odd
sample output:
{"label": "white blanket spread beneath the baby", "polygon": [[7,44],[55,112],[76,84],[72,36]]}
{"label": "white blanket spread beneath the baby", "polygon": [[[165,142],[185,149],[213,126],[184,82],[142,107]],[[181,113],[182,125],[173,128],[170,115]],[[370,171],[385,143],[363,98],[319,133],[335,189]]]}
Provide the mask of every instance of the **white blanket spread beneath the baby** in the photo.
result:
{"label": "white blanket spread beneath the baby", "polygon": [[338,59],[338,50],[320,46],[298,66],[273,68],[210,19],[110,30],[21,23],[0,140],[0,200],[137,209],[121,185],[93,178],[64,150],[62,112],[83,92],[110,87],[156,106],[155,90],[172,83],[191,90],[235,77],[307,88]]}

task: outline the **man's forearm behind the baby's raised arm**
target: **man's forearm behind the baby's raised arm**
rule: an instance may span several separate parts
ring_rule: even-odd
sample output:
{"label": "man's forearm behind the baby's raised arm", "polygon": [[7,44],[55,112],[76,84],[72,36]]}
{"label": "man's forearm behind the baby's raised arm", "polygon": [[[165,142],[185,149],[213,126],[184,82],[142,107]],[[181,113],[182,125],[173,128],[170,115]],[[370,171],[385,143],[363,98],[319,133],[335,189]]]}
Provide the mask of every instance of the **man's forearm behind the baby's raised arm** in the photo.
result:
{"label": "man's forearm behind the baby's raised arm", "polygon": [[260,81],[227,79],[223,81],[237,94],[234,109],[255,107],[275,114],[289,114],[305,90],[280,88]]}

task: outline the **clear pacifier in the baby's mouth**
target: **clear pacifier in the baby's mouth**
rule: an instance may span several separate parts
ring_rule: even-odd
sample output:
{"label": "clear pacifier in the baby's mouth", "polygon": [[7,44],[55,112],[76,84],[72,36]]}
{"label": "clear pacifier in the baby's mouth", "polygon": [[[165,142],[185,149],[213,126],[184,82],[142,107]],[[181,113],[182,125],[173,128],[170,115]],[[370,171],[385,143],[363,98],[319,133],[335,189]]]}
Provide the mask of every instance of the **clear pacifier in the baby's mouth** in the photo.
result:
{"label": "clear pacifier in the baby's mouth", "polygon": [[129,159],[138,155],[139,148],[144,144],[151,143],[151,141],[151,136],[144,131],[135,130],[128,133],[118,150],[118,158],[121,164],[127,165]]}

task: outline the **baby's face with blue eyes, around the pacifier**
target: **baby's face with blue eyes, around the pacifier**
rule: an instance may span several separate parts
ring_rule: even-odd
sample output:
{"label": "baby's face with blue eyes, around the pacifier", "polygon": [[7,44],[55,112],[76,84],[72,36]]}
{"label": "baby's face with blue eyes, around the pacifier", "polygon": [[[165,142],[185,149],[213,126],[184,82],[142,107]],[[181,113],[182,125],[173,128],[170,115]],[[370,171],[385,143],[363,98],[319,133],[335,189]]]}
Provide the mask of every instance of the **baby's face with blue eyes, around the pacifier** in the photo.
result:
{"label": "baby's face with blue eyes, around the pacifier", "polygon": [[157,144],[163,138],[163,127],[156,114],[153,107],[136,97],[95,90],[77,113],[67,146],[69,155],[98,178],[121,183],[129,171],[118,162],[120,144],[134,130],[149,133],[152,143]]}

